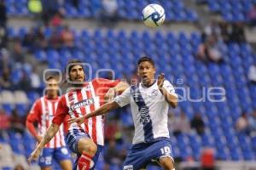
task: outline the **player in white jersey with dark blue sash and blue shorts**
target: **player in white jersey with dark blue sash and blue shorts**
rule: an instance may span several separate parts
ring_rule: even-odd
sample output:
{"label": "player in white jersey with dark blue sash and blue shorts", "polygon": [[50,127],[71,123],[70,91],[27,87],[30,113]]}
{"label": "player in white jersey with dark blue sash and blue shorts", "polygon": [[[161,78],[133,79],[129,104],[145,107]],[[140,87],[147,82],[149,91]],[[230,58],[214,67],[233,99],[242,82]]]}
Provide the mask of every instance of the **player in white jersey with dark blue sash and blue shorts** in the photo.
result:
{"label": "player in white jersey with dark blue sash and blue shorts", "polygon": [[131,149],[125,159],[124,169],[147,167],[150,161],[158,161],[165,170],[173,170],[172,146],[167,127],[169,105],[177,106],[177,94],[172,84],[161,74],[157,82],[154,79],[154,61],[143,57],[137,62],[137,72],[141,83],[132,85],[117,96],[112,102],[102,105],[96,111],[79,118],[72,118],[69,123],[81,124],[85,118],[99,116],[113,109],[131,104],[135,125],[135,134]]}

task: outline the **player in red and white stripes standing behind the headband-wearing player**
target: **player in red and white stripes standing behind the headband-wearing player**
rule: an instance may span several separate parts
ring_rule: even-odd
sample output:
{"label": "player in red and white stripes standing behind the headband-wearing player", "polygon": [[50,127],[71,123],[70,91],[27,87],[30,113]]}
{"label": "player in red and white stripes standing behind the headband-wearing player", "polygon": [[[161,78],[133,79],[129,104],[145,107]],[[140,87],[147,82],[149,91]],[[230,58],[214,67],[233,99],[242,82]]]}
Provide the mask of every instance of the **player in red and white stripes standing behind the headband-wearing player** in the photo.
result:
{"label": "player in red and white stripes standing behind the headband-wearing player", "polygon": [[[26,119],[26,127],[38,143],[41,142],[44,133],[50,126],[59,101],[59,87],[56,78],[47,77],[46,80],[46,95],[36,100]],[[39,132],[34,127],[34,123],[38,123]],[[54,139],[51,139],[48,144],[44,144],[44,150],[39,158],[41,169],[51,169],[53,158],[61,165],[62,169],[72,169],[71,157],[66,148],[63,130],[63,125],[61,125]]]}

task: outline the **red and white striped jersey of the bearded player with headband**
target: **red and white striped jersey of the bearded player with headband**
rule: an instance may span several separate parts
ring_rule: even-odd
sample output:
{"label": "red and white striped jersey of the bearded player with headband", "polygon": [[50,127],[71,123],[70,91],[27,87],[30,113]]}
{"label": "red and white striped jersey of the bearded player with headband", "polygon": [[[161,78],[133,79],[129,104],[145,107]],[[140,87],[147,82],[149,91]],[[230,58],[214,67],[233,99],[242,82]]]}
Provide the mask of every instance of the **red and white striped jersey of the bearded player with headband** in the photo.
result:
{"label": "red and white striped jersey of the bearded player with headband", "polygon": [[[104,95],[108,89],[115,87],[118,83],[119,80],[111,81],[97,78],[91,82],[85,82],[82,88],[73,89],[64,94],[61,96],[53,122],[61,124],[67,122],[67,118],[80,117],[95,111],[104,103]],[[65,132],[83,128],[96,144],[104,145],[103,127],[103,116],[95,116],[85,120],[81,127],[76,122],[69,127],[67,126]]]}

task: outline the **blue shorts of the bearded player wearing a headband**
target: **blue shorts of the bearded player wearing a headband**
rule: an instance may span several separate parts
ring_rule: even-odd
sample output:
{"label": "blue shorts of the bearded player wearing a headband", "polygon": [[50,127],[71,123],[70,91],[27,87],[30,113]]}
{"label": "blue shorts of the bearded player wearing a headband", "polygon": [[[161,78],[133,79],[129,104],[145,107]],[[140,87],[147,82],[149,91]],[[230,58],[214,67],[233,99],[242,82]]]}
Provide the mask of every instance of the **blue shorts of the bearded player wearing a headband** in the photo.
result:
{"label": "blue shorts of the bearded player wearing a headband", "polygon": [[[81,154],[79,153],[78,150],[78,143],[79,143],[79,139],[81,138],[90,138],[90,135],[88,133],[85,133],[83,130],[78,130],[78,129],[73,129],[72,132],[68,132],[66,139],[67,139],[67,145],[69,147],[70,150],[72,150],[74,153],[77,154],[78,158],[75,162],[75,166],[73,167],[73,169],[77,168],[77,164],[79,161],[79,157],[81,156]],[[92,161],[94,162],[94,166],[91,167],[90,169],[94,169],[96,166],[96,161],[98,161],[99,156],[102,152],[102,145],[97,144],[97,151],[95,156],[93,156]]]}

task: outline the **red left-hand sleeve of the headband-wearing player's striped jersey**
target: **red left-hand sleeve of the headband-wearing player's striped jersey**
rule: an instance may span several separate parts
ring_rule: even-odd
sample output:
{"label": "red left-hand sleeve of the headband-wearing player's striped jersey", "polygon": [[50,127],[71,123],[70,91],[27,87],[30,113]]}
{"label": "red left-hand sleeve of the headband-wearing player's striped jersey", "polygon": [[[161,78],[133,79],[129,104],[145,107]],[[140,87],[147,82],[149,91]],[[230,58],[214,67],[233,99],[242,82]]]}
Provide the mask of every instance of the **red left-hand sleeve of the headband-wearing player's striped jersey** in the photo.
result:
{"label": "red left-hand sleeve of the headband-wearing player's striped jersey", "polygon": [[61,123],[64,122],[65,117],[67,115],[68,115],[68,107],[66,105],[66,99],[65,99],[65,96],[62,96],[60,101],[58,102],[56,114],[52,120],[52,123],[61,125]]}

